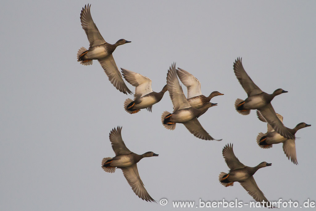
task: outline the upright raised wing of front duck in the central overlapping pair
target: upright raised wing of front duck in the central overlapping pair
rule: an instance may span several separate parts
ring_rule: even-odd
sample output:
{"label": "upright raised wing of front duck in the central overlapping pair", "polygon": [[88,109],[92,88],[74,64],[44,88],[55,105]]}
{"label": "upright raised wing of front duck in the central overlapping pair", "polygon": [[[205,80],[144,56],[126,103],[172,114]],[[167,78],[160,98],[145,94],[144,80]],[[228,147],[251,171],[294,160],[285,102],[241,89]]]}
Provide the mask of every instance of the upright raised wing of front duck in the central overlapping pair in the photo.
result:
{"label": "upright raised wing of front duck in the central overlapping pair", "polygon": [[167,89],[173,104],[173,112],[179,109],[190,108],[191,105],[183,94],[182,87],[180,86],[175,64],[171,65],[167,73]]}

